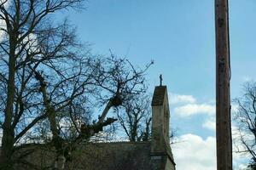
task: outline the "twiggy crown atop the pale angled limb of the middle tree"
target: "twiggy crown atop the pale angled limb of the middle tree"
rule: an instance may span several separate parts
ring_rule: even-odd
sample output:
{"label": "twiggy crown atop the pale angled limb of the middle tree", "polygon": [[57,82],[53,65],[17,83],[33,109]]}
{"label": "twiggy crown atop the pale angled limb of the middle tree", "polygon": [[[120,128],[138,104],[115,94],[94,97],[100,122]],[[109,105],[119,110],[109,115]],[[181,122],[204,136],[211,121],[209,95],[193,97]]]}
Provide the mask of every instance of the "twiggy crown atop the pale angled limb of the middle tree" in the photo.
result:
{"label": "twiggy crown atop the pale angled limb of the middle tree", "polygon": [[97,98],[104,105],[107,104],[99,117],[101,122],[111,107],[118,107],[134,99],[134,96],[146,91],[145,73],[151,61],[144,69],[140,69],[125,58],[116,58],[113,54],[106,59],[94,59],[90,65],[96,69],[94,79],[96,86],[102,88],[102,93]]}

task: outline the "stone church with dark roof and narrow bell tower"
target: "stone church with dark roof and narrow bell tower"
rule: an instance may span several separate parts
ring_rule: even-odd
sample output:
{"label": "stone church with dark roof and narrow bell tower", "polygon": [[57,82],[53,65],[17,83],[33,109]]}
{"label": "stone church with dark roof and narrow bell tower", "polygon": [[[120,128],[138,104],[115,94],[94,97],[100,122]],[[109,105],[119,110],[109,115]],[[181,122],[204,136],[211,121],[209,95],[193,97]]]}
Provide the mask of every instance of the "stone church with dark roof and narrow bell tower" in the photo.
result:
{"label": "stone church with dark roof and narrow bell tower", "polygon": [[[65,169],[74,170],[175,170],[169,141],[169,104],[166,86],[154,88],[152,99],[152,139],[147,142],[90,143],[73,153]],[[37,166],[50,166],[49,150],[38,150],[27,157]],[[35,156],[36,155],[36,156]],[[47,161],[45,161],[47,160]],[[18,168],[20,169],[20,167]],[[26,169],[26,168],[25,168]]]}

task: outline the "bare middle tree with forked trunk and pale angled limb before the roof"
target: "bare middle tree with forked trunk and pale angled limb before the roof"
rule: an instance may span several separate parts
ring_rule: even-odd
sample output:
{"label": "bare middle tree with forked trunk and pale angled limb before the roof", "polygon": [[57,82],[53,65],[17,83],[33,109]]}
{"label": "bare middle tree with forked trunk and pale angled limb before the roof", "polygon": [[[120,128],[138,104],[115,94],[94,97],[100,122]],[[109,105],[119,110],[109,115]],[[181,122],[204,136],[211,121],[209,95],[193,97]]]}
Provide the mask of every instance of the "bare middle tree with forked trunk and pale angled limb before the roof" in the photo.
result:
{"label": "bare middle tree with forked trunk and pale angled limb before the roof", "polygon": [[[113,56],[107,58],[107,60],[108,65],[104,63],[104,61],[106,61],[104,58],[94,59],[94,61],[92,62],[90,59],[88,59],[86,62],[87,65],[83,65],[81,68],[79,67],[79,74],[77,74],[79,75],[79,77],[74,74],[73,77],[67,78],[63,76],[63,72],[65,71],[61,71],[61,77],[64,77],[64,79],[61,78],[61,81],[57,81],[57,84],[53,84],[55,82],[54,80],[50,82],[47,81],[48,83],[46,83],[42,74],[40,74],[39,71],[35,71],[32,67],[30,67],[39,82],[39,91],[43,96],[42,99],[44,101],[43,103],[45,108],[44,114],[48,118],[49,129],[52,133],[51,143],[56,150],[56,160],[54,166],[56,169],[63,169],[65,167],[65,162],[67,161],[67,158],[69,156],[66,153],[71,154],[71,151],[75,150],[77,144],[83,141],[88,141],[90,137],[94,136],[96,133],[101,132],[103,130],[103,127],[106,127],[116,121],[116,119],[111,117],[108,117],[106,119],[106,116],[112,107],[118,108],[123,102],[127,102],[129,101],[129,99],[131,99],[131,97],[128,98],[127,96],[133,96],[135,94],[137,95],[144,91],[144,83],[142,81],[144,79],[143,73],[148,69],[149,65],[146,66],[145,70],[137,71],[137,69],[135,69],[128,60],[125,60],[127,62],[127,65],[125,65],[125,62],[119,62],[124,61],[124,59],[118,59]],[[80,63],[83,62],[80,61]],[[99,63],[101,64],[100,67]],[[56,68],[56,66],[52,65],[52,68]],[[82,68],[86,70],[86,72],[83,72]],[[120,72],[120,68],[122,69],[123,73]],[[60,71],[60,68],[54,69],[54,71]],[[70,72],[67,69],[66,71],[68,73]],[[81,72],[83,72],[83,74],[81,74]],[[83,77],[85,73],[89,73],[87,76],[84,77],[86,79],[82,79],[83,81],[79,81],[79,79]],[[117,75],[117,73],[120,75]],[[55,75],[55,80],[58,79],[57,77],[58,75]],[[115,79],[116,77],[118,77],[118,79]],[[75,79],[75,81],[73,79]],[[70,82],[71,80],[73,81],[73,83],[66,84],[66,81]],[[114,83],[114,81],[116,80],[118,83]],[[66,84],[64,91],[62,89],[62,83]],[[119,83],[121,83],[122,85],[120,86]],[[73,87],[67,88],[70,86]],[[92,88],[88,88],[88,86],[92,86]],[[84,87],[90,89],[90,93],[85,93]],[[71,91],[67,90],[66,88],[71,89]],[[94,88],[98,90],[95,90]],[[108,94],[108,92],[114,88],[116,88],[117,90],[114,92],[112,97],[111,94]],[[57,95],[55,91],[58,92]],[[91,91],[93,91],[93,93],[91,93]],[[97,94],[96,92],[99,91],[101,93]],[[105,99],[102,96],[105,96],[106,94],[110,95],[108,99]],[[86,98],[86,95],[89,95],[89,98],[94,98],[91,95],[96,95],[96,99],[99,100],[100,103],[102,103],[103,101],[107,103],[98,120],[95,120],[92,123],[86,123],[83,122],[81,119],[75,119],[74,112],[72,110],[68,110],[73,107],[72,103],[74,99],[77,99],[78,96],[79,98],[81,98],[81,96],[83,96],[83,98]],[[69,111],[69,114],[63,115],[63,112],[67,110]],[[68,127],[68,129],[66,128],[66,131],[61,131],[61,119],[63,118],[66,118],[70,120],[69,122],[71,122],[69,125],[66,124],[66,127]],[[79,123],[77,121],[79,121]],[[73,133],[75,134],[73,136],[74,138],[71,139],[69,137],[65,139],[65,135],[63,136],[63,134],[70,133],[71,127],[73,127],[73,130],[75,130],[75,133]]]}

